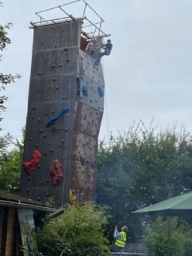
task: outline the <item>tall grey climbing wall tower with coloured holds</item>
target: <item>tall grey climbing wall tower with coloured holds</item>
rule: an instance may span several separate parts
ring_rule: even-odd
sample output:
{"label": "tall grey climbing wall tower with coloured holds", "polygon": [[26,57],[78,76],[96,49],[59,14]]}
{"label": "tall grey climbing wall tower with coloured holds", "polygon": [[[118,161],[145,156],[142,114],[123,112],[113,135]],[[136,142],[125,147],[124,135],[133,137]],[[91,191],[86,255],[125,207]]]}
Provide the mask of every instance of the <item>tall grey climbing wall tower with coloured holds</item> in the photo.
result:
{"label": "tall grey climbing wall tower with coloured holds", "polygon": [[104,78],[101,64],[81,50],[81,25],[33,28],[20,193],[57,207],[94,201],[96,190]]}

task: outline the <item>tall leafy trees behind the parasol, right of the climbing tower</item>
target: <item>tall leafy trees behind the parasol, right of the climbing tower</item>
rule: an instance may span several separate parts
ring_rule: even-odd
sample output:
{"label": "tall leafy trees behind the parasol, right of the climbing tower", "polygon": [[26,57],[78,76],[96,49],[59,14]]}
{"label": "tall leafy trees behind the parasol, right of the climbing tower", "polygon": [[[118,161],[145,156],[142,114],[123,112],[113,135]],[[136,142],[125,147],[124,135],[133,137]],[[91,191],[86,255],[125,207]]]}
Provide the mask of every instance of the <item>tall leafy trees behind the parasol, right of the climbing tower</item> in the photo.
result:
{"label": "tall leafy trees behind the parasol, right of the climbing tower", "polygon": [[183,126],[157,132],[141,121],[100,143],[98,200],[111,206],[117,225],[128,224],[133,240],[142,236],[145,222],[132,211],[192,189],[191,139]]}

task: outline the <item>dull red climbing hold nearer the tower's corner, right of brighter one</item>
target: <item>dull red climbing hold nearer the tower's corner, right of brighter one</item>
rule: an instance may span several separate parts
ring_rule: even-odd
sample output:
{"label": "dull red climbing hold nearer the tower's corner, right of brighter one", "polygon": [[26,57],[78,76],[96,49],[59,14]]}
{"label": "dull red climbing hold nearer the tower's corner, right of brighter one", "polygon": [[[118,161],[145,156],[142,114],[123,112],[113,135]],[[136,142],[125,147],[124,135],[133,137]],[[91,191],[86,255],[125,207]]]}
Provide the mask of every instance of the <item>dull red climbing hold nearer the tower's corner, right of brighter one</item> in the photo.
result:
{"label": "dull red climbing hold nearer the tower's corner, right of brighter one", "polygon": [[53,176],[53,185],[59,185],[61,180],[63,179],[63,171],[60,161],[54,159],[50,164],[50,175]]}

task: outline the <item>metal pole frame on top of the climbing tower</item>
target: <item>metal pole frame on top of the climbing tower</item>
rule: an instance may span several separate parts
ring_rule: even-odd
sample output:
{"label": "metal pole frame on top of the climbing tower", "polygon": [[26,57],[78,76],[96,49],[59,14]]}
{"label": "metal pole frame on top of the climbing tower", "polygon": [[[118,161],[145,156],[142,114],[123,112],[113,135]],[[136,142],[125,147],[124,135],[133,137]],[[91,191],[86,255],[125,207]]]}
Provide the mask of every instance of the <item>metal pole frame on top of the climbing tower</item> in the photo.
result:
{"label": "metal pole frame on top of the climbing tower", "polygon": [[[75,17],[75,16],[71,15],[70,13],[68,13],[65,9],[63,9],[64,6],[71,5],[76,2],[83,2],[83,4],[84,4],[82,16],[80,16],[80,17]],[[50,12],[55,9],[64,13],[65,16],[63,16],[62,18],[56,18],[56,19],[45,19],[43,17],[43,14],[45,14],[45,12]],[[98,20],[96,22],[91,22],[91,19],[87,18],[87,16],[86,16],[87,10],[91,11],[93,13],[93,15],[97,17]],[[99,16],[98,13],[95,12],[94,9],[92,9],[92,7],[90,5],[88,5],[87,2],[85,2],[84,0],[75,0],[75,1],[67,2],[66,4],[63,4],[63,5],[55,6],[50,9],[45,9],[43,11],[36,12],[36,16],[38,16],[40,18],[40,21],[39,22],[30,22],[31,26],[29,26],[29,28],[34,28],[36,26],[46,26],[46,25],[57,24],[57,23],[61,23],[61,22],[69,22],[71,20],[81,19],[81,20],[84,20],[84,22],[82,24],[82,32],[81,33],[84,36],[86,36],[87,38],[91,39],[94,36],[101,36],[101,37],[111,36],[110,34],[105,33],[104,31],[101,30],[102,23],[105,22],[105,20],[102,19],[101,16]],[[88,29],[89,29],[89,31],[88,31]]]}

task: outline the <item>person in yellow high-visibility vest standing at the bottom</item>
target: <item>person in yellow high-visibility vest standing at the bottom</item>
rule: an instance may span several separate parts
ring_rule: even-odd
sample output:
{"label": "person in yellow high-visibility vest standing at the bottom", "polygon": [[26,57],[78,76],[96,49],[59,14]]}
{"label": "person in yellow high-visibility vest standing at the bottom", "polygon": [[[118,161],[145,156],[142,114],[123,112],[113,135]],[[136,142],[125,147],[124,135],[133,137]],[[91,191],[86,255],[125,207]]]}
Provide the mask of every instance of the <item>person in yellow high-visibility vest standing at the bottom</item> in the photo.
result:
{"label": "person in yellow high-visibility vest standing at the bottom", "polygon": [[127,240],[127,226],[122,227],[122,231],[118,232],[118,227],[115,226],[114,238],[115,238],[115,251],[124,251]]}

